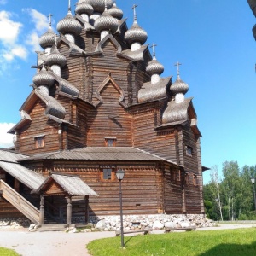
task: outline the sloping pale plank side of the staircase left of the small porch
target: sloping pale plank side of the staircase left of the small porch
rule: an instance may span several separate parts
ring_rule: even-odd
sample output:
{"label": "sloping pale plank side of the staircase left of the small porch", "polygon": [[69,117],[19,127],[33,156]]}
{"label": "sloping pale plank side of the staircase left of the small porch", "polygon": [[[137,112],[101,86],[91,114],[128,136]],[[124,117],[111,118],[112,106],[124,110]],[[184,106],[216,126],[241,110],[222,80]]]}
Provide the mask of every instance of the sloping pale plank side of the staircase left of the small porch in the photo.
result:
{"label": "sloping pale plank side of the staircase left of the small porch", "polygon": [[22,212],[26,218],[30,219],[34,224],[39,224],[40,211],[1,179],[0,191],[2,191],[1,196]]}

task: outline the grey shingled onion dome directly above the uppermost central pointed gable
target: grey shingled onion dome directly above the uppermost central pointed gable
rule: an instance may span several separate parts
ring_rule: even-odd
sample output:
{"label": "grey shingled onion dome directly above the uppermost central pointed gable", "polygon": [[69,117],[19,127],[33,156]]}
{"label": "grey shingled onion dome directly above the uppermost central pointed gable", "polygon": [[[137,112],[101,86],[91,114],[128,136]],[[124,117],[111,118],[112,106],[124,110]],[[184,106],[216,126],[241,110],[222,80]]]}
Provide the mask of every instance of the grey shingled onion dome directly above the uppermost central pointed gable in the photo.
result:
{"label": "grey shingled onion dome directly above the uppermost central pointed gable", "polygon": [[105,11],[100,16],[100,18],[98,18],[95,21],[94,27],[96,29],[96,32],[102,32],[103,30],[106,30],[106,31],[110,30],[112,33],[114,33],[117,31],[119,27],[119,23],[118,23],[118,20],[113,18],[113,16],[109,15],[108,10],[105,9]]}

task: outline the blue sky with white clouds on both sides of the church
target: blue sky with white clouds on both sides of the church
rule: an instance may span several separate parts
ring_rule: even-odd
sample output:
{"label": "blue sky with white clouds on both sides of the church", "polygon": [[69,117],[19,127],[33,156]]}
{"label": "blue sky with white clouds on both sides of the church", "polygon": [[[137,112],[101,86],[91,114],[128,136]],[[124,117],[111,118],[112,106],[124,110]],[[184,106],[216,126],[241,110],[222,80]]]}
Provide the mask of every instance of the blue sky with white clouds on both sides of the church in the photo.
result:
{"label": "blue sky with white clouds on both sides of the church", "polygon": [[[53,27],[67,15],[67,0],[0,0],[0,147],[12,137],[5,132],[20,120],[19,109],[32,88],[36,73],[38,36],[54,14]],[[256,44],[255,18],[245,0],[117,0],[132,23],[131,6],[137,3],[137,21],[148,32],[146,44],[157,44],[156,56],[165,66],[162,77],[181,78],[194,97],[201,138],[202,164],[237,160],[256,164]],[[72,0],[74,9],[75,1]],[[204,182],[209,172],[204,174]]]}

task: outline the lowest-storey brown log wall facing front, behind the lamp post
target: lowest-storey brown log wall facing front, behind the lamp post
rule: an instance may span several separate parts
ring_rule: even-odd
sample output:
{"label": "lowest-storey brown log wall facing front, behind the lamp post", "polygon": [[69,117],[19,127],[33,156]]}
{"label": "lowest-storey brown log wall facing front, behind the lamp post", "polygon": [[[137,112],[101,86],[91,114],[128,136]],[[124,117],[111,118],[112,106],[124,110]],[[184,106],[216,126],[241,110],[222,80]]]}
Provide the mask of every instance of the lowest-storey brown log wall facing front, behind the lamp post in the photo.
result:
{"label": "lowest-storey brown log wall facing front, behind the lamp post", "polygon": [[[163,212],[162,174],[152,163],[103,163],[125,171],[122,181],[124,214],[156,214]],[[119,214],[119,181],[102,180],[99,163],[59,162],[54,164],[54,172],[79,175],[99,197],[90,196],[90,215]],[[84,214],[84,210],[81,211]]]}

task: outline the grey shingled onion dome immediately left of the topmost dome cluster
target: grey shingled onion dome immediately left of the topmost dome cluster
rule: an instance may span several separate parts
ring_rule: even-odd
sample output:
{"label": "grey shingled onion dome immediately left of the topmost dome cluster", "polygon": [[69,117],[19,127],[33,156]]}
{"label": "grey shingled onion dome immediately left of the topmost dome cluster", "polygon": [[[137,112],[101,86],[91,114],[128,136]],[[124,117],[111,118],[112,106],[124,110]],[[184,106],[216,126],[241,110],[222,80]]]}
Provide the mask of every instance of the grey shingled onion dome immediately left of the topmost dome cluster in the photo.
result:
{"label": "grey shingled onion dome immediately left of the topmost dome cluster", "polygon": [[58,22],[57,30],[62,34],[73,34],[73,35],[79,35],[80,32],[82,31],[82,26],[80,25],[79,21],[73,18],[70,5],[68,7],[67,16]]}

